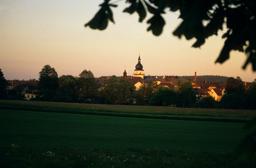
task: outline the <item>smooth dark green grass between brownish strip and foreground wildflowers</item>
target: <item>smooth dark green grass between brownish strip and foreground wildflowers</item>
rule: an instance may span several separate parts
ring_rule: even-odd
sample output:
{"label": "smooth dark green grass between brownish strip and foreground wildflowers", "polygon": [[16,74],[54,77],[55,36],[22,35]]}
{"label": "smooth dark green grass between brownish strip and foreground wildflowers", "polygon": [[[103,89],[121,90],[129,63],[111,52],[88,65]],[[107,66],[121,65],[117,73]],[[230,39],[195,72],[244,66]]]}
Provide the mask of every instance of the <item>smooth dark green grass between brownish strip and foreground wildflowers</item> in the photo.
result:
{"label": "smooth dark green grass between brownish strip and foreground wildflowers", "polygon": [[2,147],[232,152],[244,123],[178,121],[0,110]]}

